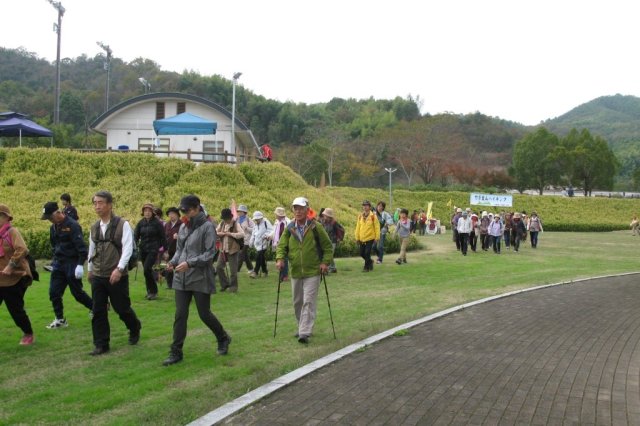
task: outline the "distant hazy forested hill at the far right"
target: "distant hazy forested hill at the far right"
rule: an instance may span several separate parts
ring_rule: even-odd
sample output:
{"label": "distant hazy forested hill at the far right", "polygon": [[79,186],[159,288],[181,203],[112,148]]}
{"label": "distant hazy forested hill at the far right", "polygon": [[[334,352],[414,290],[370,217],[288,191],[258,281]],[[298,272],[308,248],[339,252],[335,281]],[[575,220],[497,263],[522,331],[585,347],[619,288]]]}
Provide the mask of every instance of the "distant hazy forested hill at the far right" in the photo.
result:
{"label": "distant hazy forested hill at the far right", "polygon": [[616,150],[623,142],[640,141],[640,98],[602,96],[543,123],[547,129],[565,135],[572,128],[586,128],[602,136]]}

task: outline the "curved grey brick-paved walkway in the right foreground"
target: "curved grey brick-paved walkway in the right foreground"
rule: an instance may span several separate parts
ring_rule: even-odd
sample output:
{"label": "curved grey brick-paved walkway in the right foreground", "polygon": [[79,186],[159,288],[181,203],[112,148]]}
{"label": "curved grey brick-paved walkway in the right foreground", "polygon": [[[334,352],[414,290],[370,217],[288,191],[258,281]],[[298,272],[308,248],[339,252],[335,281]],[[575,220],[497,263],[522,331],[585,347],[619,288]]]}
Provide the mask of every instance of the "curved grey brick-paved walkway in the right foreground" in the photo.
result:
{"label": "curved grey brick-paved walkway in the right foreground", "polygon": [[390,337],[233,425],[640,425],[640,275],[521,293]]}

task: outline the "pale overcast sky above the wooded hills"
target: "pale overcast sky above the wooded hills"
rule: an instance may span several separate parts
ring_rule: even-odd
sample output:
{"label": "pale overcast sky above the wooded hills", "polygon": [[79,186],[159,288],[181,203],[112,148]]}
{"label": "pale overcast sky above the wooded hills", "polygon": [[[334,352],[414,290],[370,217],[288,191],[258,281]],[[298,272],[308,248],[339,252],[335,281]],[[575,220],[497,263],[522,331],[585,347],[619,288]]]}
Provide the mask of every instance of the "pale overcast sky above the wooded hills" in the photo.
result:
{"label": "pale overcast sky above the wooded hills", "polygon": [[[279,101],[412,95],[423,113],[531,125],[640,95],[634,0],[61,1],[63,58],[93,57],[102,41],[166,71],[240,71],[239,84]],[[48,0],[2,3],[0,46],[55,61]]]}

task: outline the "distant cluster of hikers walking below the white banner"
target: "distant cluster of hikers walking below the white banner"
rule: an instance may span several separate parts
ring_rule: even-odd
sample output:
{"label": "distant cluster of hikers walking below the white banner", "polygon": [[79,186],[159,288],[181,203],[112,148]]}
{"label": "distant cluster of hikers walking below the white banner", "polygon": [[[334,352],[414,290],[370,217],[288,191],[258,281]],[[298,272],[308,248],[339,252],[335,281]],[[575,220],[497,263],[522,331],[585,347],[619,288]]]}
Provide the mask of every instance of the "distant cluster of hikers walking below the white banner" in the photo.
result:
{"label": "distant cluster of hikers walking below the white banner", "polygon": [[468,247],[471,251],[478,251],[478,241],[480,249],[489,251],[493,249],[495,254],[501,252],[501,242],[507,250],[513,247],[514,252],[520,250],[520,244],[527,239],[527,233],[531,241],[531,247],[538,247],[538,234],[543,232],[542,220],[536,211],[530,215],[527,212],[506,212],[489,213],[481,212],[479,215],[467,207],[463,210],[456,207],[451,216],[451,229],[453,242],[456,249],[467,255]]}

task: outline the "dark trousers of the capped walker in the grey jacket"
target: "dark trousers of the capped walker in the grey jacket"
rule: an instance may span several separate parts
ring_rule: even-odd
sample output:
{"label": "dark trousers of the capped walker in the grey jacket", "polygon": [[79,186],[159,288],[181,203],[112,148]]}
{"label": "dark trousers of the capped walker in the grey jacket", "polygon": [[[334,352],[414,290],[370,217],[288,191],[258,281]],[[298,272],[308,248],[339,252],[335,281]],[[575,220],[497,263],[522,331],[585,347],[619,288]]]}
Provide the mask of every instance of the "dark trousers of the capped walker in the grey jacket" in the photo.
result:
{"label": "dark trousers of the capped walker in the grey jacket", "polygon": [[209,293],[185,290],[176,290],[175,293],[176,316],[173,322],[172,352],[182,353],[182,346],[187,337],[187,320],[189,319],[189,305],[191,305],[192,298],[196,301],[196,308],[202,322],[215,334],[218,342],[224,340],[227,333],[218,318],[211,312],[211,295]]}

